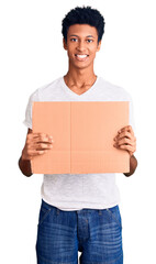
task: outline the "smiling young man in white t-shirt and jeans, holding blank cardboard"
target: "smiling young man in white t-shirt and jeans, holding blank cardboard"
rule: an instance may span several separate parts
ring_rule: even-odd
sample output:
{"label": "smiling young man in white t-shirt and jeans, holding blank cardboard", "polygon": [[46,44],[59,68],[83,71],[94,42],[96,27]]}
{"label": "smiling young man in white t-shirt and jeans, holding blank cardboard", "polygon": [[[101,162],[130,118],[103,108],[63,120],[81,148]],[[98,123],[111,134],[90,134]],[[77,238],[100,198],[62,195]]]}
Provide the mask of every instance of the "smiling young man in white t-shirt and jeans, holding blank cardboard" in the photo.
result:
{"label": "smiling young man in white t-shirt and jeans, holding blank cardboard", "polygon": [[[24,175],[32,175],[32,157],[44,155],[55,144],[53,135],[33,133],[33,101],[130,101],[130,125],[116,131],[114,147],[130,154],[130,173],[124,175],[131,176],[135,172],[136,139],[132,128],[131,97],[123,88],[98,77],[93,70],[103,33],[104,19],[90,7],[70,10],[63,20],[68,72],[30,97],[24,120],[29,131],[19,161]],[[78,251],[82,252],[82,264],[123,263],[122,222],[114,174],[44,175],[37,263],[76,264]]]}

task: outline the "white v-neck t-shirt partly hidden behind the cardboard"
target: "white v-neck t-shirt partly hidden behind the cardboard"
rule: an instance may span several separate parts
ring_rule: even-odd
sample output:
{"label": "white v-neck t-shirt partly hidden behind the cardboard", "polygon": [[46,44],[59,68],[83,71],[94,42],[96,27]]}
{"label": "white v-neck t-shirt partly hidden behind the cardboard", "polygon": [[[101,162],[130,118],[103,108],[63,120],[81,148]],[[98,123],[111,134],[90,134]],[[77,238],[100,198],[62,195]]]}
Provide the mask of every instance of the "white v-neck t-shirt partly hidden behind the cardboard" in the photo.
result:
{"label": "white v-neck t-shirt partly hidden behind the cardboard", "polygon": [[[81,95],[71,91],[64,77],[36,89],[31,96],[23,123],[32,129],[33,101],[130,101],[130,124],[134,130],[132,98],[119,86],[97,77],[93,86]],[[120,201],[115,174],[45,174],[41,196],[60,210],[105,209]]]}

